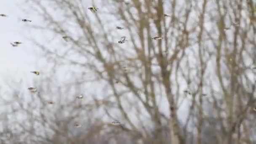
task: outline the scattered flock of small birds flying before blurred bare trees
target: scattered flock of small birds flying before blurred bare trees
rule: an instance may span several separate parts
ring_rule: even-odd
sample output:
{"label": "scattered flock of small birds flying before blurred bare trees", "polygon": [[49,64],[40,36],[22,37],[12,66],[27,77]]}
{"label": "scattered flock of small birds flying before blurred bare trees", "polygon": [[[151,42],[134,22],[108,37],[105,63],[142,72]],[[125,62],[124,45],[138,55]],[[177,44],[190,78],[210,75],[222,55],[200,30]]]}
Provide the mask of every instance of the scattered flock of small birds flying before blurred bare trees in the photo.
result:
{"label": "scattered flock of small birds flying before blurred bare trees", "polygon": [[[96,8],[96,7],[90,7],[90,8],[88,8],[88,10],[90,10],[92,13],[96,13],[98,10],[99,10],[99,8]],[[0,14],[0,17],[6,17],[7,15],[5,15],[5,14]],[[167,15],[167,14],[163,14],[163,16],[164,17],[171,17],[171,16],[169,16],[169,15]],[[31,20],[29,20],[29,19],[22,19],[21,21],[24,21],[24,22],[32,22]],[[117,26],[116,27],[116,29],[119,29],[119,30],[122,30],[122,29],[125,29],[125,28],[123,28],[123,27],[119,27],[119,26]],[[62,37],[65,41],[67,41],[68,40],[68,36],[63,36]],[[156,36],[156,37],[152,37],[152,40],[162,40],[164,37],[159,37],[159,36]],[[125,36],[122,36],[121,37],[121,39],[118,41],[118,43],[120,43],[120,44],[123,44],[123,43],[125,43],[126,41],[128,41],[128,40],[126,40],[126,37]],[[13,42],[13,43],[11,43],[11,45],[13,46],[13,47],[17,47],[17,46],[19,46],[19,45],[21,45],[22,43],[21,42],[19,42],[19,41],[15,41],[15,42]],[[256,69],[256,67],[253,67],[253,69]],[[127,71],[127,69],[125,68],[125,71]],[[34,73],[35,75],[40,75],[40,72],[38,72],[38,71],[31,71],[31,73]],[[121,83],[120,81],[116,81],[116,83],[118,84],[118,83]],[[31,93],[36,93],[37,92],[37,88],[34,88],[34,87],[31,87],[31,88],[27,88]],[[189,94],[189,95],[192,95],[192,93],[190,92],[190,91],[184,91],[184,93],[187,93],[187,94]],[[205,93],[203,93],[202,94],[203,96],[206,96],[206,94]],[[77,99],[83,99],[83,95],[81,94],[81,95],[79,95],[79,96],[76,96],[76,98]],[[54,101],[48,101],[47,102],[48,104],[54,104]],[[254,111],[256,111],[256,108],[253,108],[253,110]],[[112,125],[122,125],[119,121],[117,121],[117,120],[115,120],[115,121],[112,121]],[[79,128],[79,127],[81,127],[81,124],[80,123],[75,123],[75,125],[74,125],[76,128]]]}

